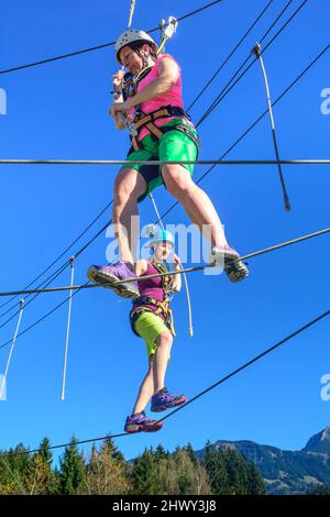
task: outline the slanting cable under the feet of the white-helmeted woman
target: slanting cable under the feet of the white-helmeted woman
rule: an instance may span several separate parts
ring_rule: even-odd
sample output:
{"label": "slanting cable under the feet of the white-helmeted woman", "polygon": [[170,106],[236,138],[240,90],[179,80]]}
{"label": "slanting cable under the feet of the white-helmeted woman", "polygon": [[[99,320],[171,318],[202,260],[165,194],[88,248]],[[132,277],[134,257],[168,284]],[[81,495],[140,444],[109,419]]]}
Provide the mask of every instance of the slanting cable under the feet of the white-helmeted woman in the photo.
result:
{"label": "slanting cable under the feet of the white-helmeted woman", "polygon": [[[285,241],[280,242],[279,244],[275,244],[270,248],[264,248],[262,250],[255,251],[253,253],[249,253],[246,255],[239,256],[238,258],[234,258],[232,263],[239,262],[239,261],[248,261],[250,258],[253,258],[255,256],[264,255],[265,253],[270,253],[276,250],[280,250],[282,248],[286,248],[293,244],[297,244],[298,242],[307,241],[308,239],[314,239],[319,235],[324,235],[326,233],[330,232],[330,228],[324,228],[323,230],[319,230],[314,233],[308,233],[307,235],[299,237],[297,239],[292,239],[290,241]],[[215,264],[205,264],[202,266],[194,266],[194,267],[186,267],[180,271],[180,273],[194,273],[197,271],[202,271],[202,270],[208,270],[215,267]],[[156,278],[158,276],[173,276],[176,275],[177,272],[167,272],[167,273],[155,273],[152,275],[145,275],[145,276],[140,276],[140,277],[131,277],[131,278],[124,278],[122,280],[118,280],[112,284],[112,286],[117,286],[120,284],[125,284],[125,283],[131,283],[131,282],[136,282],[136,280],[146,280],[150,278]],[[105,282],[105,284],[107,284]],[[13,290],[13,292],[6,292],[6,293],[0,293],[0,296],[12,296],[12,295],[25,295],[30,293],[56,293],[61,290],[70,290],[70,289],[86,289],[86,288],[95,288],[95,287],[102,287],[101,285],[98,284],[82,284],[82,285],[77,285],[77,286],[64,286],[64,287],[50,287],[46,289],[31,289],[31,290]],[[1,349],[2,346],[0,346]]]}

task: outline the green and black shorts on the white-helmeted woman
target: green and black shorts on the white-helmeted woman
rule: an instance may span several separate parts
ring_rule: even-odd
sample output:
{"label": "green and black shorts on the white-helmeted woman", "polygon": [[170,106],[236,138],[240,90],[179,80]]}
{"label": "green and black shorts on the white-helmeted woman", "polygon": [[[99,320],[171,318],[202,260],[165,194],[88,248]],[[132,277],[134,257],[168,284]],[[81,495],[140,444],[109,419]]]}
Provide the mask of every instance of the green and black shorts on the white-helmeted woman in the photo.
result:
{"label": "green and black shorts on the white-helmeted woman", "polygon": [[[188,128],[188,131],[193,133],[195,139],[198,140],[196,131],[190,127],[190,124],[183,121],[182,119],[170,120],[167,124],[162,125],[160,129],[162,130],[162,128],[177,125],[178,123],[184,123]],[[156,139],[155,136],[147,134],[144,136],[144,139],[141,140],[141,144],[143,148],[130,152],[127,160],[131,162],[136,160],[139,162],[147,160],[187,160],[193,162],[197,158],[198,155],[198,147],[196,143],[187,134],[175,129],[164,133],[161,139]],[[193,175],[194,165],[183,164],[183,167],[189,170],[189,173]],[[132,168],[135,168],[142,174],[147,185],[145,194],[140,196],[138,199],[138,201],[141,202],[148,195],[148,193],[164,183],[162,177],[162,166],[132,164]]]}

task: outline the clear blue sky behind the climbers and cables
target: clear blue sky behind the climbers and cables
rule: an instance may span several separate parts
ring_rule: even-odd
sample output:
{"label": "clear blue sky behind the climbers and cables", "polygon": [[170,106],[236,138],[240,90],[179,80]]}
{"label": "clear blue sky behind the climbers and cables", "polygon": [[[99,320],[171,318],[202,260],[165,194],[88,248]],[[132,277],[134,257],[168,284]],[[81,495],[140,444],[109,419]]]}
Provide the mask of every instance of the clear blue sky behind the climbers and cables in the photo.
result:
{"label": "clear blue sky behind the climbers and cables", "polygon": [[[194,107],[196,121],[246,57],[286,2],[275,0],[208,92]],[[285,19],[298,7],[294,1]],[[1,2],[0,69],[113,41],[128,21],[129,0],[109,2],[31,0]],[[138,0],[133,26],[150,29],[168,15],[180,16],[204,2]],[[167,45],[182,65],[184,97],[190,103],[232,46],[266,4],[265,0],[224,0],[179,23]],[[309,0],[264,54],[275,99],[329,44],[329,2]],[[272,33],[274,34],[274,32]],[[321,113],[321,91],[329,88],[327,53],[274,108],[283,158],[329,158],[330,116]],[[128,136],[108,117],[113,48],[0,76],[8,97],[0,117],[1,157],[122,160]],[[200,127],[200,158],[221,156],[264,111],[265,92],[254,65]],[[264,119],[228,156],[272,160],[268,119]],[[1,166],[0,216],[2,271],[0,290],[23,287],[89,224],[111,199],[116,167]],[[198,178],[206,167],[196,167]],[[327,166],[284,167],[292,211],[283,209],[274,166],[217,167],[201,186],[226,224],[229,241],[249,253],[329,227],[330,176]],[[158,189],[161,212],[173,199]],[[107,222],[109,212],[79,242],[79,249]],[[142,223],[154,221],[148,201]],[[180,207],[165,223],[187,223]],[[76,282],[86,280],[91,263],[103,263],[103,233],[77,260]],[[70,256],[67,254],[66,258]],[[224,276],[189,276],[195,337],[187,333],[184,294],[174,301],[178,337],[167,385],[193,397],[243,362],[329,308],[329,237],[251,260],[251,277],[233,285]],[[66,270],[54,285],[67,285]],[[22,327],[34,322],[66,297],[45,294],[26,308]],[[4,301],[4,300],[3,300]],[[19,299],[16,299],[19,302]],[[1,300],[2,302],[2,300]],[[16,341],[9,373],[8,400],[0,403],[0,449],[23,441],[35,447],[122,432],[144,375],[142,340],[128,324],[130,302],[106,289],[74,298],[67,395],[59,399],[66,308]],[[0,309],[2,314],[2,310]],[[4,321],[0,319],[0,323]],[[1,343],[15,320],[0,330]],[[0,350],[0,372],[9,348]],[[156,435],[118,440],[127,458],[145,447],[173,450],[190,441],[249,439],[283,449],[300,449],[329,425],[330,402],[322,402],[320,378],[330,373],[329,320],[323,320],[250,370],[230,380],[168,419]]]}

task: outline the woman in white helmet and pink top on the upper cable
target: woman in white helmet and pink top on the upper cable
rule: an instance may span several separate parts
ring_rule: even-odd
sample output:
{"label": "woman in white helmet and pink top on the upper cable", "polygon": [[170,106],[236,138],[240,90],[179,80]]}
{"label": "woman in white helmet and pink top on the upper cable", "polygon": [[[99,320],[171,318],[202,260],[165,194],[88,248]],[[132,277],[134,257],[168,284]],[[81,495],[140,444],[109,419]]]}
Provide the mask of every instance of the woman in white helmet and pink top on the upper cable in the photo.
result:
{"label": "woman in white helmet and pink top on the upper cable", "polygon": [[[128,238],[132,235],[132,216],[139,213],[138,204],[163,184],[209,240],[209,262],[221,265],[231,282],[249,275],[239,253],[227,242],[211,199],[193,180],[199,143],[184,110],[180,67],[169,54],[158,56],[157,51],[157,44],[146,32],[134,29],[121,34],[116,44],[116,57],[130,73],[124,88],[124,72],[113,76],[116,102],[110,109],[117,128],[131,133],[129,164],[117,175],[113,190],[112,223],[120,261],[112,266],[90,266],[88,277],[124,298],[139,296],[136,283],[118,284],[118,279],[134,277],[138,242]],[[148,164],[155,160],[173,163]]]}

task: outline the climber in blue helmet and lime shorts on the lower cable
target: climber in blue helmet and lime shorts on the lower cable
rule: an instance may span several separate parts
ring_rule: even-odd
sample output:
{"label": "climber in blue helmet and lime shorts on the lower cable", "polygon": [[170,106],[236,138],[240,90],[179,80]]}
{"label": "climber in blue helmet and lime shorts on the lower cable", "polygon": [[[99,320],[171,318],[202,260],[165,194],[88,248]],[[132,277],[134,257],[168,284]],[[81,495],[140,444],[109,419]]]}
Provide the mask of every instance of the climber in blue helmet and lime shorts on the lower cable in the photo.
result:
{"label": "climber in blue helmet and lime shorts on the lower cable", "polygon": [[[148,261],[136,262],[138,277],[168,272],[166,260],[174,250],[174,238],[169,232],[160,230],[151,242],[152,257]],[[180,261],[173,253],[172,261],[175,271],[180,270]],[[169,297],[180,290],[180,274],[173,276],[156,276],[138,282],[139,297],[133,301],[130,314],[134,333],[144,339],[146,344],[148,369],[141,384],[139,395],[132,411],[127,418],[127,432],[158,431],[163,424],[146,417],[144,409],[151,399],[151,410],[154,413],[179,406],[186,402],[184,395],[173,395],[164,386],[165,373],[170,355],[173,336],[175,336]]]}

